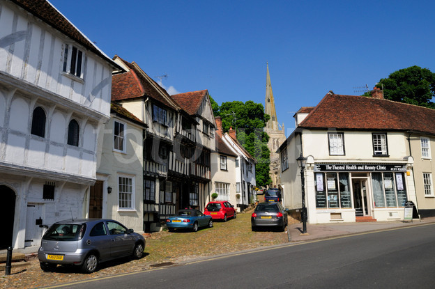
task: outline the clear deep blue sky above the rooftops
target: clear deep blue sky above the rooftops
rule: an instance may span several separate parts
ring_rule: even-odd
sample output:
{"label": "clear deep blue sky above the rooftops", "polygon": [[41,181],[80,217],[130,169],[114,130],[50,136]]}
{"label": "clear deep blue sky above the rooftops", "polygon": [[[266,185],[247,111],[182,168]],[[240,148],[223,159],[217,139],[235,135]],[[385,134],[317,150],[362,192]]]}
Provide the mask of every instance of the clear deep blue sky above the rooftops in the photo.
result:
{"label": "clear deep blue sky above the rooftops", "polygon": [[[167,75],[168,91],[208,89],[221,104],[264,104],[269,63],[277,118],[332,90],[360,95],[412,65],[435,72],[434,1],[52,0],[109,57]],[[170,88],[170,89],[169,89]]]}

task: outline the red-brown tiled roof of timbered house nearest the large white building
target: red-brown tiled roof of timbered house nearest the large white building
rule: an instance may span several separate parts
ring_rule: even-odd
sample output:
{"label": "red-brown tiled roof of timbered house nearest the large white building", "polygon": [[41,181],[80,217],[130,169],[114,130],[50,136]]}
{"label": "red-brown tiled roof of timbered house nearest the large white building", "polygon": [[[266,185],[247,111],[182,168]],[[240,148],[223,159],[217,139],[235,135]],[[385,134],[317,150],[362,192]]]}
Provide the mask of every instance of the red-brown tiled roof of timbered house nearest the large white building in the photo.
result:
{"label": "red-brown tiled roof of timbered house nearest the large white building", "polygon": [[[116,56],[119,57],[119,56]],[[120,58],[120,57],[119,57]],[[149,77],[137,63],[124,61],[130,69],[128,72],[116,74],[112,78],[112,100],[128,100],[136,97],[151,97],[171,109],[178,110],[179,107],[171,96]]]}

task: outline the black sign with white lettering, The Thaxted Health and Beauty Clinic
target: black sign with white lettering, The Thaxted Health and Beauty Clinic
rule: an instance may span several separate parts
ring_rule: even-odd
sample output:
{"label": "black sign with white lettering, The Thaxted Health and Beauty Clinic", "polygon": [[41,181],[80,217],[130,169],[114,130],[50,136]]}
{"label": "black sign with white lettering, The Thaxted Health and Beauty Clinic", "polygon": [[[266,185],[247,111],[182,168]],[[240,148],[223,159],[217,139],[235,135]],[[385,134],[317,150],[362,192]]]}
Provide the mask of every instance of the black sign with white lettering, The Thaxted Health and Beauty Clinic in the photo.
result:
{"label": "black sign with white lettering, The Thaxted Health and Beauty Clinic", "polygon": [[314,171],[406,171],[400,164],[316,164]]}

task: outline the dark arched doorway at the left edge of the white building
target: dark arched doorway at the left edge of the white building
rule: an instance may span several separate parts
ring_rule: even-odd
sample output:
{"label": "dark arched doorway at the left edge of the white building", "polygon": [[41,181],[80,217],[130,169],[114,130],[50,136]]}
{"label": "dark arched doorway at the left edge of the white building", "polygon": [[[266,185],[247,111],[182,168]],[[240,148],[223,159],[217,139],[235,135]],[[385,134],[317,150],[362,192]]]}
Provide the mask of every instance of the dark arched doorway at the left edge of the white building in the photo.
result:
{"label": "dark arched doorway at the left edge of the white building", "polygon": [[0,249],[12,246],[13,223],[15,215],[15,192],[4,185],[0,186],[0,220],[3,220],[4,235],[0,238]]}

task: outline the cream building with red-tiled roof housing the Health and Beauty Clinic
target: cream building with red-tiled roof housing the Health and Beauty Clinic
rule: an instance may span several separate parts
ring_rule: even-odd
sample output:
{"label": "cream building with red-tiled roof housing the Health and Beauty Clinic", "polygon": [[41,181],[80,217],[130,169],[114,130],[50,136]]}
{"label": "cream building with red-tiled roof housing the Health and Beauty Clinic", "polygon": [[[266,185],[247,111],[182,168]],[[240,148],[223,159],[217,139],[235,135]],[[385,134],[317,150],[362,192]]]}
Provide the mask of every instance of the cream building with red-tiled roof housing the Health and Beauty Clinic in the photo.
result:
{"label": "cream building with red-tiled roof housing the Health and Beauty Clinic", "polygon": [[409,135],[425,130],[425,120],[416,119],[422,109],[383,100],[380,91],[373,97],[330,91],[316,107],[300,109],[296,130],[278,150],[284,206],[302,208],[296,164],[302,155],[308,222],[404,219],[404,203],[418,205]]}

